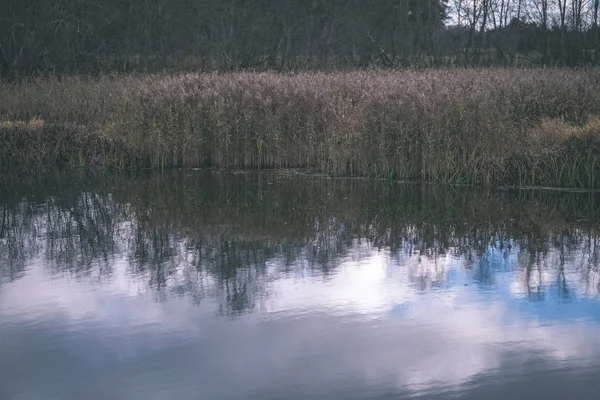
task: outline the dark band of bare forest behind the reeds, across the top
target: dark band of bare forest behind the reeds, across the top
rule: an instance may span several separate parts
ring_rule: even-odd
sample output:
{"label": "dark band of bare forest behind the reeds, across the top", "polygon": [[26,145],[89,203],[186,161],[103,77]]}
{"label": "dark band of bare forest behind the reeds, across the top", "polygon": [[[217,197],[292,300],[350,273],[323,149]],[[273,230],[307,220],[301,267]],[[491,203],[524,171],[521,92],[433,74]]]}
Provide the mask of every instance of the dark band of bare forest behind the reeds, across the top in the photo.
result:
{"label": "dark band of bare forest behind the reeds, across the top", "polygon": [[600,0],[2,0],[0,77],[600,64]]}

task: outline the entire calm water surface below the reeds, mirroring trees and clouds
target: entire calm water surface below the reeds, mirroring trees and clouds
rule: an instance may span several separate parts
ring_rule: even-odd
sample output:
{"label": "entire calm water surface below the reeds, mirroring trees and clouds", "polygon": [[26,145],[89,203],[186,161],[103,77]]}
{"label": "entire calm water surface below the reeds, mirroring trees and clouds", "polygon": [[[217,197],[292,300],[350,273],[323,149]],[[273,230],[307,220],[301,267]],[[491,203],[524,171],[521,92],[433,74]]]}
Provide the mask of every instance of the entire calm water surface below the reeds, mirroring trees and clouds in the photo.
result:
{"label": "entire calm water surface below the reeds, mirroring trees and clouds", "polygon": [[0,175],[0,399],[596,399],[600,195]]}

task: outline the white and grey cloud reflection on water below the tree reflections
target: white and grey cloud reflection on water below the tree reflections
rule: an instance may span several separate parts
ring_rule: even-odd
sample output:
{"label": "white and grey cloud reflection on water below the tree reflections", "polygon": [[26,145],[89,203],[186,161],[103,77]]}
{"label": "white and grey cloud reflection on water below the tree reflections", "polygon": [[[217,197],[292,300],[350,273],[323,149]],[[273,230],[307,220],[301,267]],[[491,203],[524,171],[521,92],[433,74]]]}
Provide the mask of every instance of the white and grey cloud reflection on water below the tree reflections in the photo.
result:
{"label": "white and grey cloud reflection on water below the tree reflections", "polygon": [[[13,363],[26,362],[17,354],[27,351],[20,342],[25,330],[40,340],[79,335],[88,337],[84,343],[101,343],[99,352],[120,355],[120,367],[106,368],[123,368],[124,376],[135,377],[127,368],[145,371],[153,362],[148,358],[156,357],[156,368],[180,389],[201,388],[206,398],[243,397],[294,385],[323,394],[336,382],[418,394],[449,390],[500,371],[518,379],[535,360],[554,368],[597,363],[600,325],[593,317],[600,307],[586,300],[595,296],[589,287],[598,281],[597,274],[582,288],[581,274],[568,269],[565,277],[575,301],[554,306],[580,311],[577,318],[553,318],[520,306],[529,304],[527,285],[514,265],[496,274],[493,290],[481,290],[468,279],[468,265],[452,256],[433,261],[415,255],[399,261],[364,244],[360,253],[341,260],[327,279],[297,268],[270,280],[259,309],[234,319],[217,316],[209,300],[200,305],[185,297],[154,301],[147,286],[128,273],[125,259],[116,261],[112,277],[101,283],[49,277],[37,260],[24,277],[0,287],[0,333],[5,330],[0,354],[8,354]],[[492,255],[495,259],[488,261],[510,266],[520,262],[516,254]],[[279,266],[272,262],[269,268],[276,274]],[[552,285],[552,271],[538,274],[533,283]],[[539,310],[550,306],[540,304]],[[58,339],[53,343],[70,345]],[[169,352],[172,357],[165,355]],[[79,363],[88,363],[88,357],[82,352]],[[123,360],[129,364],[119,364]],[[5,363],[0,361],[3,368]],[[64,368],[54,378],[67,373],[69,367]],[[4,394],[18,398],[16,393],[42,390],[33,377],[14,378],[4,382]],[[121,389],[139,397],[141,386],[132,382],[123,381]],[[165,383],[144,385],[147,398],[158,398],[152,393]],[[2,393],[0,389],[0,397]]]}

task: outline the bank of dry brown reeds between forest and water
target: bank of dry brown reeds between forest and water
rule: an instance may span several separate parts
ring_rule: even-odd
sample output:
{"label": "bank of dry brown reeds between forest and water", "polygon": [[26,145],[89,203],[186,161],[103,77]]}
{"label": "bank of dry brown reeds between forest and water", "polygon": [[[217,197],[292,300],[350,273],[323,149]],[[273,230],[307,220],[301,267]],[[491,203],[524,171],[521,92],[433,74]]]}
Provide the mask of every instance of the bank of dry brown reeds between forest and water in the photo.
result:
{"label": "bank of dry brown reeds between forest and water", "polygon": [[[42,152],[44,162],[116,167],[600,186],[595,70],[34,79],[0,86],[0,121],[3,166]],[[32,130],[39,140],[24,139]],[[74,140],[57,144],[60,135]]]}

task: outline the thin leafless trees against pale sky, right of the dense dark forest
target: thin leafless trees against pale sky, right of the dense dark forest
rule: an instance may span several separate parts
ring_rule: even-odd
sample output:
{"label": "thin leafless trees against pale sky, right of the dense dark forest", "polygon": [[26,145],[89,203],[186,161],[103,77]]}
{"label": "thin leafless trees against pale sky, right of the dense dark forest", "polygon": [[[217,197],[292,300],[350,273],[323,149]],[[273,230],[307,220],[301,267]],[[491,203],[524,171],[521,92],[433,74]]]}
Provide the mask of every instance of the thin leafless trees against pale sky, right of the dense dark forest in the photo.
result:
{"label": "thin leafless trees against pale sky, right of the dense dark forest", "polygon": [[463,63],[585,66],[600,61],[600,0],[452,0]]}

